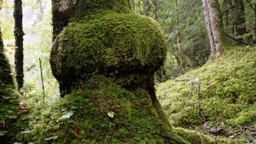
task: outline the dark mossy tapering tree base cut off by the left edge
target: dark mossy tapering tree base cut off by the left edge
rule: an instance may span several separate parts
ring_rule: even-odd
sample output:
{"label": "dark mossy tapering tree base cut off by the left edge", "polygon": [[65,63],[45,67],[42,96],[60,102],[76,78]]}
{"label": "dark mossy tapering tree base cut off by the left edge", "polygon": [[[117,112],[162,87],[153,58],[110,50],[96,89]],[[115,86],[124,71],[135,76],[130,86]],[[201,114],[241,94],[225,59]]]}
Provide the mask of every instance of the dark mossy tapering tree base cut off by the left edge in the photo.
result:
{"label": "dark mossy tapering tree base cut off by the left edge", "polygon": [[[14,86],[9,61],[4,54],[0,30],[0,144],[12,139],[26,119],[18,112],[19,94]],[[15,124],[15,122],[19,122]]]}

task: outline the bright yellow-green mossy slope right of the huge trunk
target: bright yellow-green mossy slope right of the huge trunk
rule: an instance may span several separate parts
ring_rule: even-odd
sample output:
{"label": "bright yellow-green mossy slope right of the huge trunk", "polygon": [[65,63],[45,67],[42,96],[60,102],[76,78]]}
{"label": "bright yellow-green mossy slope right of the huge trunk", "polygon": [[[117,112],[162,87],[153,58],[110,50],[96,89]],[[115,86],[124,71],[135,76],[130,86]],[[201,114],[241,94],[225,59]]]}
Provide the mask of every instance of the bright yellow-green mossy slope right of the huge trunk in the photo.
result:
{"label": "bright yellow-green mossy slope right of the huge trunk", "polygon": [[[256,124],[256,49],[227,47],[219,59],[187,72],[176,80],[198,78],[201,112],[206,121],[224,121],[229,126]],[[174,126],[200,126],[197,84],[166,81],[158,84],[157,97]],[[191,93],[192,90],[192,93]]]}

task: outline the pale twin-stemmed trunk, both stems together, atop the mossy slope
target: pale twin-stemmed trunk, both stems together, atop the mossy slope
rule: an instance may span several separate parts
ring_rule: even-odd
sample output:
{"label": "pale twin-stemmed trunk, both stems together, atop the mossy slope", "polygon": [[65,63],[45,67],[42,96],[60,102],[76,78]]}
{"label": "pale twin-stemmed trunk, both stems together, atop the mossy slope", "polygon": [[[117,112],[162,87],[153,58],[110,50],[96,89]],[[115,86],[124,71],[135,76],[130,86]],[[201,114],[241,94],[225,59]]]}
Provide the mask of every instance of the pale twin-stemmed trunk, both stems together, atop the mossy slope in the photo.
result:
{"label": "pale twin-stemmed trunk, both stems together, atop the mossy slope", "polygon": [[[216,56],[219,57],[223,53],[224,45],[225,45],[225,34],[223,29],[222,18],[220,14],[219,1],[218,0],[202,0],[204,7],[204,15],[208,36],[210,39],[211,45],[211,55],[214,55],[216,52]],[[207,7],[207,8],[205,8]],[[207,11],[208,10],[208,11]],[[207,17],[209,16],[209,17]],[[210,24],[208,24],[210,21]],[[215,51],[213,50],[214,42]]]}

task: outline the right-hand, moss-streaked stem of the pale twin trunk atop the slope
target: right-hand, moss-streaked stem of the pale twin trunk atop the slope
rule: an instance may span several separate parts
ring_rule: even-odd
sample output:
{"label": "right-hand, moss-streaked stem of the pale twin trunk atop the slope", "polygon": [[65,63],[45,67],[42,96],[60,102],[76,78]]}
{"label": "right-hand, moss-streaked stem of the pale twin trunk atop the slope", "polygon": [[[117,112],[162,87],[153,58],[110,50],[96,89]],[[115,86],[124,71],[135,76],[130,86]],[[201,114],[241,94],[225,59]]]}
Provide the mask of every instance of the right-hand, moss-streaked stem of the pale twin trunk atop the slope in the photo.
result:
{"label": "right-hand, moss-streaked stem of the pale twin trunk atop the slope", "polygon": [[225,34],[223,30],[222,19],[220,15],[219,9],[219,1],[218,0],[206,0],[209,16],[210,16],[210,25],[211,31],[215,43],[216,48],[216,56],[219,57],[223,53],[224,45],[225,45]]}

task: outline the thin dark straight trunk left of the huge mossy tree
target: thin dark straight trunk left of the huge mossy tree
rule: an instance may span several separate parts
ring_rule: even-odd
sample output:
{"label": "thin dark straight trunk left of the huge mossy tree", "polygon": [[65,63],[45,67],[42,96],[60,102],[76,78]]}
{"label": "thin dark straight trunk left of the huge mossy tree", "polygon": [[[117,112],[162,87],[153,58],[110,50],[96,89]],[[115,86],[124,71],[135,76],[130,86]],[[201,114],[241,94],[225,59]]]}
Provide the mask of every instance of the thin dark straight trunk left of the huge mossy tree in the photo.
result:
{"label": "thin dark straight trunk left of the huge mossy tree", "polygon": [[22,27],[22,0],[14,0],[14,36],[15,36],[15,71],[18,90],[23,87],[23,27]]}

